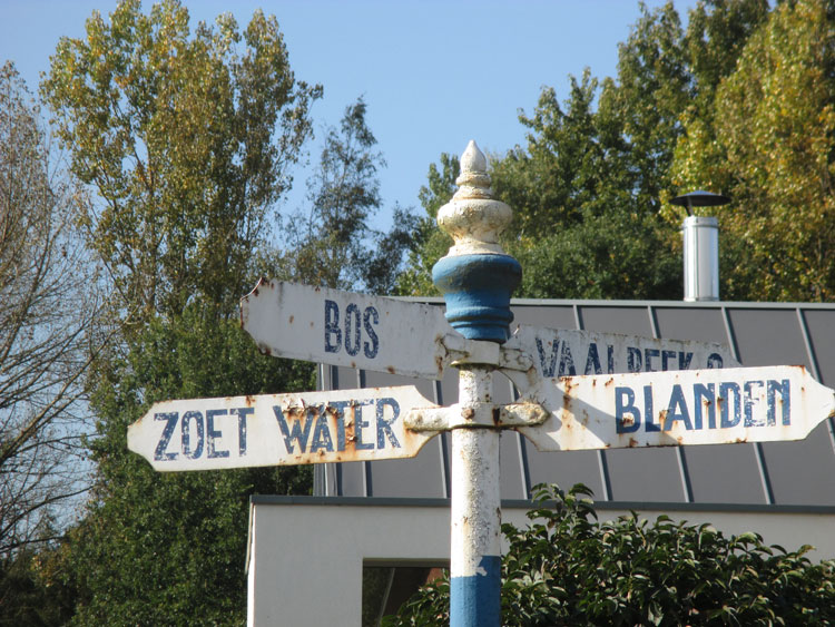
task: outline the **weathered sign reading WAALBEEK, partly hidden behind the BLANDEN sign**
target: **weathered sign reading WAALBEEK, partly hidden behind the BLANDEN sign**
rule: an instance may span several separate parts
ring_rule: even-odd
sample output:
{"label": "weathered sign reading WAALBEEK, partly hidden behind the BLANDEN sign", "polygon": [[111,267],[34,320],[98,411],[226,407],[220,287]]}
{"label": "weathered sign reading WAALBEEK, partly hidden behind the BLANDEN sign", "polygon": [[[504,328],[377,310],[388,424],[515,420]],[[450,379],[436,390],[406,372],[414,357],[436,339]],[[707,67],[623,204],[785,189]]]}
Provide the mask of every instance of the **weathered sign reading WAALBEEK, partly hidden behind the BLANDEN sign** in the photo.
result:
{"label": "weathered sign reading WAALBEEK, partly hidden behind the BLANDEN sign", "polygon": [[734,368],[721,344],[521,324],[505,344],[533,357],[540,376]]}

